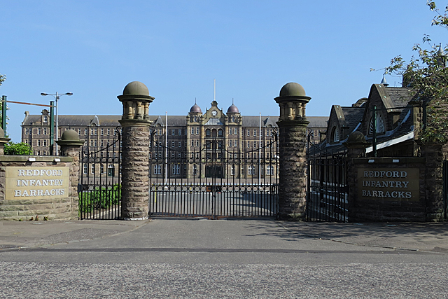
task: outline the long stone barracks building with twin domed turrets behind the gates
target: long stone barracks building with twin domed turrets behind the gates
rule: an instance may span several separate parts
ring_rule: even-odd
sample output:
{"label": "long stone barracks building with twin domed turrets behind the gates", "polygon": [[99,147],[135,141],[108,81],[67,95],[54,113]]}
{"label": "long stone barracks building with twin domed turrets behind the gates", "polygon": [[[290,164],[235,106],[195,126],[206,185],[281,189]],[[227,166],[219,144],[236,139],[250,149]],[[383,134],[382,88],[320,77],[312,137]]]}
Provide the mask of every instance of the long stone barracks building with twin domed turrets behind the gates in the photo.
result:
{"label": "long stone barracks building with twin domed turrets behind the gates", "polygon": [[[278,116],[241,116],[239,109],[232,104],[227,112],[218,108],[216,101],[211,102],[209,109],[203,113],[200,106],[194,104],[186,116],[150,116],[151,129],[151,157],[152,159],[179,158],[202,160],[223,160],[223,158],[244,158],[253,160],[276,159],[276,122]],[[99,151],[113,144],[115,130],[120,127],[118,120],[121,116],[75,116],[59,115],[59,137],[66,130],[78,132],[81,140],[85,141],[83,151]],[[321,132],[325,132],[328,117],[310,116],[309,133],[311,141],[318,142]],[[25,112],[22,122],[22,142],[32,146],[35,155],[50,154],[50,115],[44,109],[40,115],[30,115]],[[111,155],[118,155],[118,146],[111,148]],[[165,150],[166,149],[166,150]],[[234,157],[235,155],[235,157]],[[243,158],[243,157],[241,157]],[[193,159],[193,160],[191,160]],[[169,176],[184,176],[186,163],[173,166],[169,169]],[[190,163],[187,163],[190,164]],[[84,173],[105,173],[107,165],[95,166],[92,169],[83,169]],[[176,167],[183,169],[176,169]],[[115,167],[114,167],[115,168]],[[163,165],[154,165],[151,172],[162,174]],[[240,167],[241,168],[241,167]],[[246,167],[245,175],[255,174],[257,167]],[[109,169],[108,169],[109,171]],[[118,171],[114,169],[114,172]],[[269,174],[276,169],[264,169]],[[223,177],[234,172],[244,172],[244,169],[222,169],[221,167],[205,167],[195,169],[194,163],[188,166],[188,176]],[[227,173],[227,174],[225,174]],[[235,174],[233,174],[235,175]]]}

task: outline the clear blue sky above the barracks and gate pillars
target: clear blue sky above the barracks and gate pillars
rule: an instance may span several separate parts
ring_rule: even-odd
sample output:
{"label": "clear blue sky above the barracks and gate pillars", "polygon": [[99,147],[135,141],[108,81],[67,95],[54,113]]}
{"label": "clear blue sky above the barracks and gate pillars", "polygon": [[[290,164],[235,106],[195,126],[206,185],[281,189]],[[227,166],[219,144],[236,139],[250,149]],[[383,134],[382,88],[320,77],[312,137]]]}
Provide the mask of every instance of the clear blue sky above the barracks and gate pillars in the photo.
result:
{"label": "clear blue sky above the barracks and gate pillars", "polygon": [[[440,6],[445,4],[440,2]],[[0,8],[0,95],[48,104],[59,114],[121,114],[117,99],[131,81],[155,97],[151,115],[205,111],[232,98],[244,115],[278,116],[274,97],[288,82],[311,97],[308,116],[350,106],[381,81],[392,57],[409,58],[429,34],[426,0],[376,1],[3,1]],[[387,76],[389,84],[400,78]],[[8,134],[20,141],[25,111],[8,104]]]}

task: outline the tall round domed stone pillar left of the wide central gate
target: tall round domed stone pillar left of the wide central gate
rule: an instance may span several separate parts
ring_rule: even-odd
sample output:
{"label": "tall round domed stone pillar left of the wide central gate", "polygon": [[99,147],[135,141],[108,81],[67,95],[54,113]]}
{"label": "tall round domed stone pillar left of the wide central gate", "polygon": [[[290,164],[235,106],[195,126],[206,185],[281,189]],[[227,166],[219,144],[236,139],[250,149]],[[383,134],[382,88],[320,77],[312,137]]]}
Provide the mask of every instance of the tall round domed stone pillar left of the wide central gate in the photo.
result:
{"label": "tall round domed stone pillar left of the wide central gate", "polygon": [[122,160],[121,160],[121,216],[125,220],[148,218],[149,199],[149,95],[144,83],[126,85],[118,99],[123,103]]}

